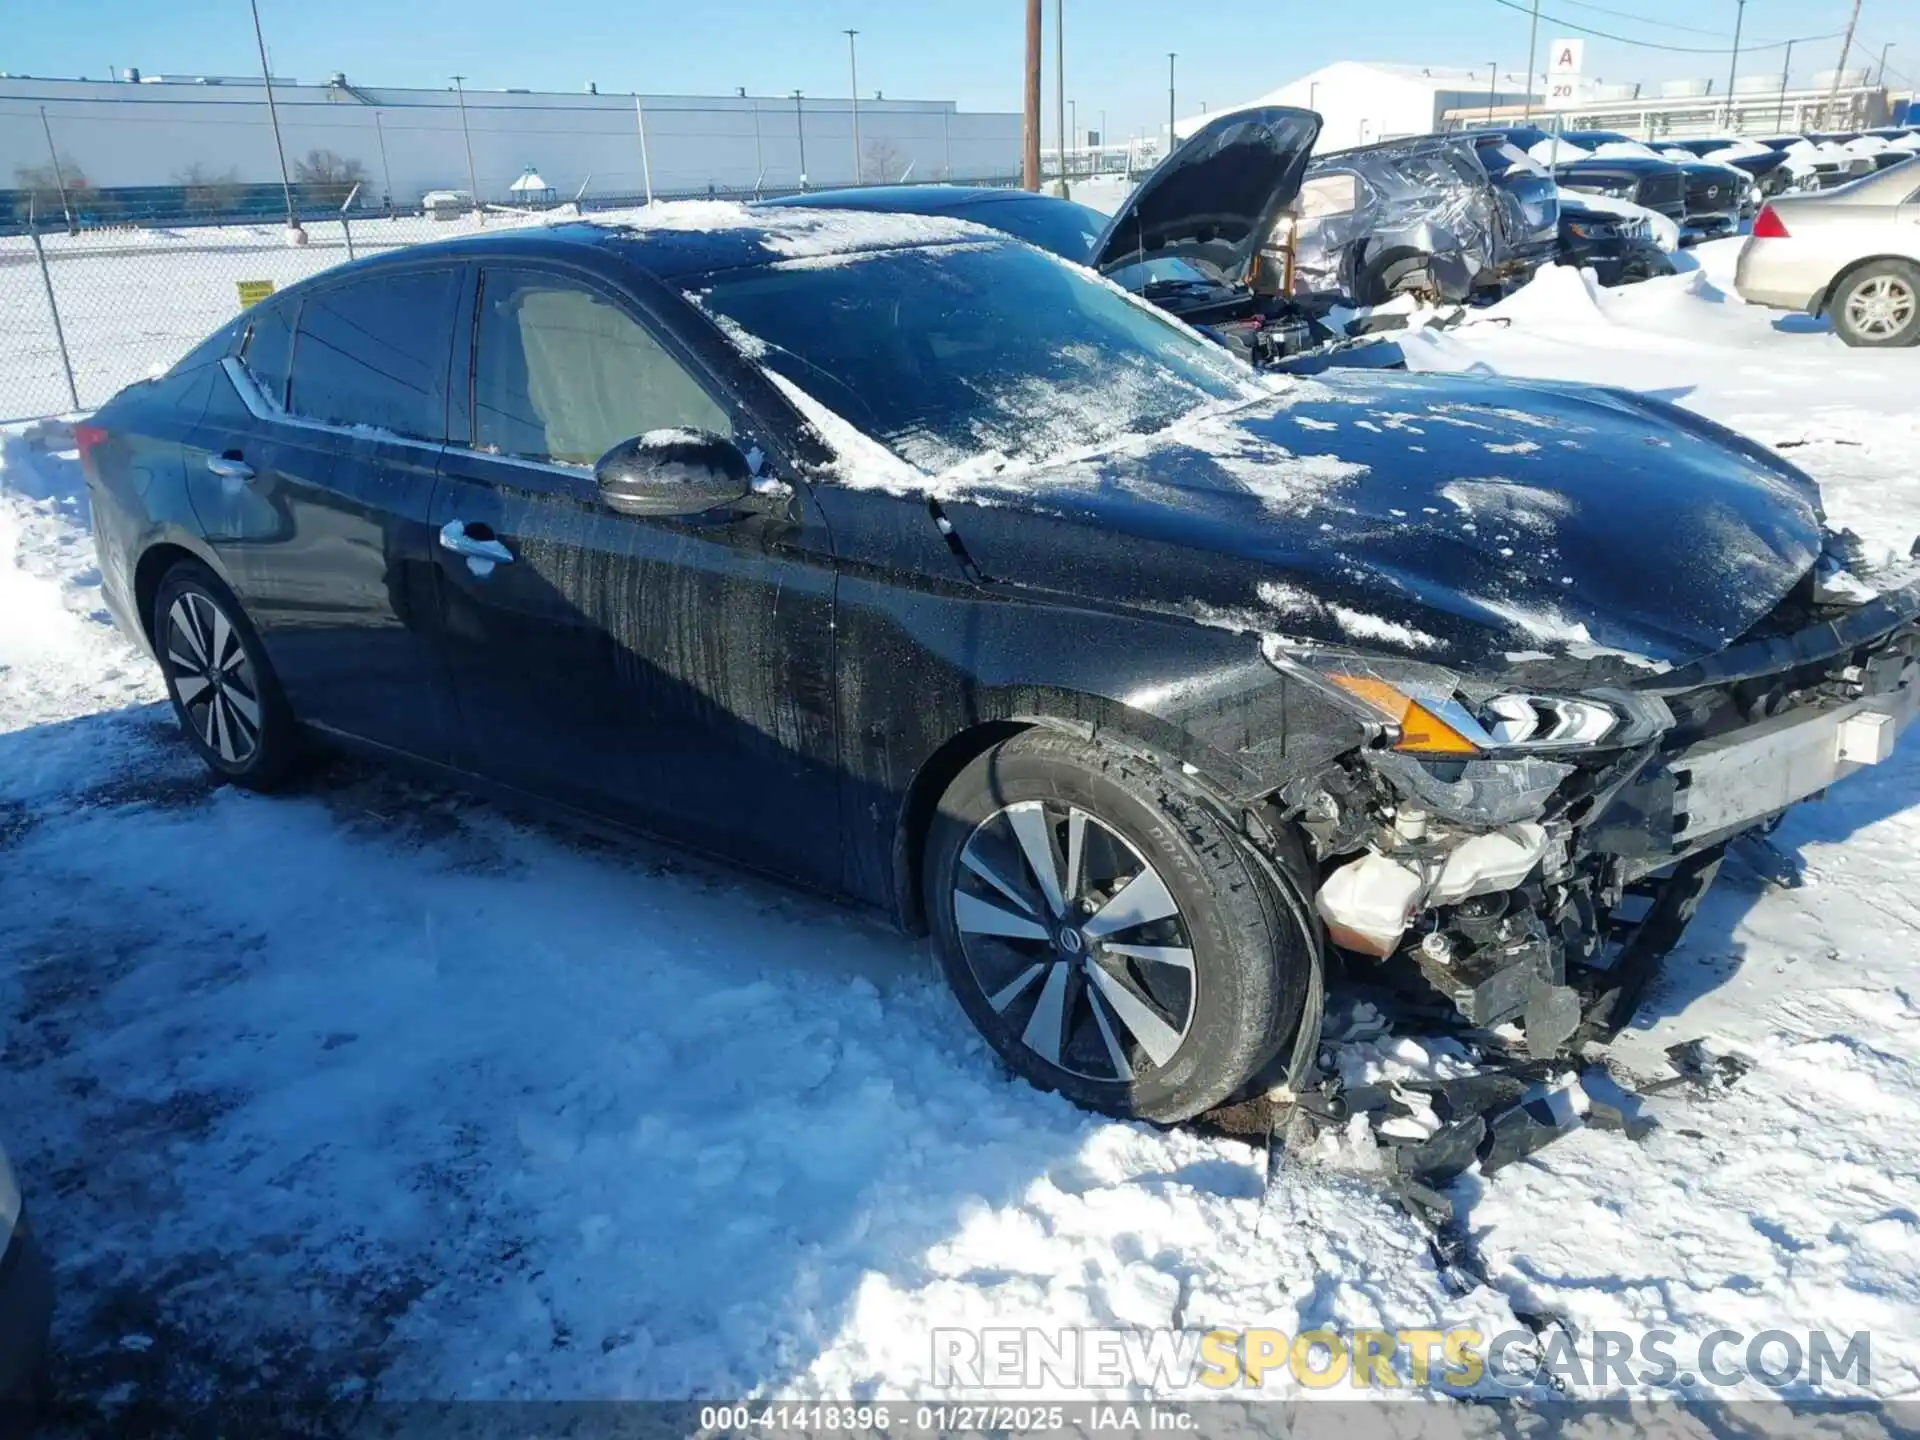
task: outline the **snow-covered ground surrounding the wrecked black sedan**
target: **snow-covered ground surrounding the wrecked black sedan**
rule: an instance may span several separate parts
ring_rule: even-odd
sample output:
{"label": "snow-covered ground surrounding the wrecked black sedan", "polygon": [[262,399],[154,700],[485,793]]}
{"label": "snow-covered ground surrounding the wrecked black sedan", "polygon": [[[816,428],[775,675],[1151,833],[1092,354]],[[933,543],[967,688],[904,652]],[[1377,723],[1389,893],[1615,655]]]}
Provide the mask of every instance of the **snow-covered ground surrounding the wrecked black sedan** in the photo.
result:
{"label": "snow-covered ground surrounding the wrecked black sedan", "polygon": [[[1747,309],[1695,255],[1620,294],[1546,271],[1409,361],[1678,399],[1905,551],[1920,351]],[[209,785],[106,622],[69,432],[0,436],[0,1127],[75,1394],[927,1398],[941,1329],[1517,1308],[1692,1336],[1682,1369],[1720,1329],[1872,1331],[1868,1388],[1920,1390],[1920,747],[1788,822],[1803,887],[1728,866],[1622,1043],[1751,1071],[1455,1183],[1494,1281],[1455,1294],[1363,1179],[1269,1185],[1006,1079],[876,922],[346,762]]]}

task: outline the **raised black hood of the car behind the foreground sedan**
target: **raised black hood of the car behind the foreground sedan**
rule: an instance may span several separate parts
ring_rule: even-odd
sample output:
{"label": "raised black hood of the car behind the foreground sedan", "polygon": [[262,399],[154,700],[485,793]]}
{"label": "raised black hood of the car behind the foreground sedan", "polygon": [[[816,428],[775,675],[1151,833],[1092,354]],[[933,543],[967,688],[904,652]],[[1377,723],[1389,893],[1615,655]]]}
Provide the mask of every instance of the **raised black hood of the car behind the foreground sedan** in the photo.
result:
{"label": "raised black hood of the car behind the foreground sedan", "polygon": [[1300,194],[1319,127],[1311,109],[1286,106],[1215,115],[1127,198],[1089,265],[1104,273],[1179,255],[1240,278]]}

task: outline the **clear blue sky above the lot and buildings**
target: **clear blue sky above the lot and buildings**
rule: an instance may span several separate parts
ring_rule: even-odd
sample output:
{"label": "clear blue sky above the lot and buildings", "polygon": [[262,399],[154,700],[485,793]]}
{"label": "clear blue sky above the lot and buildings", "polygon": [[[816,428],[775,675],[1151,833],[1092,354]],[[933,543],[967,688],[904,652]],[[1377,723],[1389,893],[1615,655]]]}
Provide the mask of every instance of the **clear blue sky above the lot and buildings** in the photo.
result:
{"label": "clear blue sky above the lot and buildings", "polygon": [[[1515,0],[1524,6],[1528,0]],[[1726,50],[1736,0],[1540,0],[1548,15],[1670,46]],[[275,73],[321,81],[344,69],[369,84],[756,94],[847,92],[847,36],[860,31],[860,90],[1018,109],[1021,0],[259,0]],[[12,8],[0,69],[88,75],[257,71],[246,0],[60,0]],[[1046,0],[1048,46],[1054,0]],[[1847,0],[1749,0],[1743,44],[1845,27]],[[1167,50],[1179,52],[1179,109],[1248,100],[1331,60],[1392,60],[1503,69],[1526,61],[1528,17],[1498,0],[1068,0],[1068,96],[1079,123],[1110,132],[1162,125]],[[1565,27],[1542,19],[1542,46]],[[1703,33],[1705,31],[1705,33]],[[1715,33],[1716,31],[1716,33]],[[1889,79],[1920,77],[1920,4],[1864,0],[1853,63],[1893,42]],[[1839,42],[1795,48],[1803,81]],[[1780,50],[1741,60],[1778,69]],[[1674,54],[1588,40],[1590,75],[1661,81],[1713,75],[1726,54]],[[1910,81],[1908,81],[1910,83]],[[1046,60],[1052,127],[1052,52]]]}

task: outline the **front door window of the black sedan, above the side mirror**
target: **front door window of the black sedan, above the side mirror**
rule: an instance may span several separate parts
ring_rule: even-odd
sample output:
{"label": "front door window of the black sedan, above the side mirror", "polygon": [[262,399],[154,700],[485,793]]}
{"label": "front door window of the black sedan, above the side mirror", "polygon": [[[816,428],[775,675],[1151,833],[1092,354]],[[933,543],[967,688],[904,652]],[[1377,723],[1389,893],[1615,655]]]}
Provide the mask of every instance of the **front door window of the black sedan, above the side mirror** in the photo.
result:
{"label": "front door window of the black sedan, above the side mirror", "polygon": [[728,411],[609,296],[557,275],[486,271],[474,444],[593,465],[649,430],[733,436]]}

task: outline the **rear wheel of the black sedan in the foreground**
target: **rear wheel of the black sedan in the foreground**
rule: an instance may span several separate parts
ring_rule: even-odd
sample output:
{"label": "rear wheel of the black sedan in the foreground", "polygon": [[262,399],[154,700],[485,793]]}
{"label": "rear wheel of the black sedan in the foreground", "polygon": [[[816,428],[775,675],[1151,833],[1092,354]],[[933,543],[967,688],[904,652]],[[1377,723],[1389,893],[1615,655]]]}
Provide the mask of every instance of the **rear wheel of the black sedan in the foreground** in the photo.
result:
{"label": "rear wheel of the black sedan in the foreground", "polygon": [[246,611],[198,561],[159,582],[154,655],[188,743],[207,768],[246,789],[278,789],[298,768],[300,728]]}

